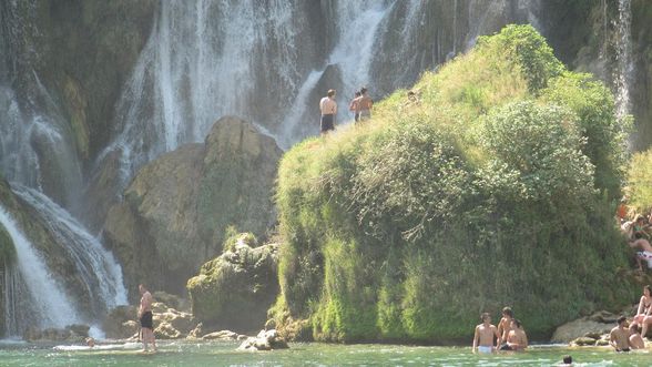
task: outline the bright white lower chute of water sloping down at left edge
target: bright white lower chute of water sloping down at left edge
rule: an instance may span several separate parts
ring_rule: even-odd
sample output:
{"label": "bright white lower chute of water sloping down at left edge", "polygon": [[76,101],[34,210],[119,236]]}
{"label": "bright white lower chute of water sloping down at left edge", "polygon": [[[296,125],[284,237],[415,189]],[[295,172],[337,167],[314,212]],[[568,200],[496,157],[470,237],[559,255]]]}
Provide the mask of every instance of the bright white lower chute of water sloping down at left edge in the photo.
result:
{"label": "bright white lower chute of water sloping down at left edge", "polygon": [[[9,215],[4,207],[0,206],[0,224],[4,226],[11,236],[17,253],[17,269],[20,278],[24,281],[28,290],[29,302],[22,305],[29,309],[21,309],[20,314],[24,319],[22,325],[29,324],[39,327],[65,327],[67,325],[80,323],[77,307],[69,300],[64,288],[48,273],[48,267],[39,256],[32,244],[19,228],[16,221]],[[7,289],[9,305],[16,305],[16,274],[8,277],[12,282]],[[16,307],[11,309],[16,316]],[[11,325],[11,324],[10,324]],[[24,326],[23,326],[24,327]],[[20,332],[17,325],[12,325],[12,332]]]}

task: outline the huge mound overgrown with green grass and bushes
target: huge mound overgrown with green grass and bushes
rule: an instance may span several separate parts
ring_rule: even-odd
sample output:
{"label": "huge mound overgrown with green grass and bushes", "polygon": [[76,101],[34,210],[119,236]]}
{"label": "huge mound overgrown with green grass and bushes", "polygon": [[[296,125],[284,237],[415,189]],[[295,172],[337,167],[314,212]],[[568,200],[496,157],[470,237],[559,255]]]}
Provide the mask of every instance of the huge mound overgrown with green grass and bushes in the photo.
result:
{"label": "huge mound overgrown with green grass and bushes", "polygon": [[529,26],[294,146],[277,187],[279,325],[317,340],[468,339],[512,306],[532,337],[635,299],[613,223],[613,99]]}

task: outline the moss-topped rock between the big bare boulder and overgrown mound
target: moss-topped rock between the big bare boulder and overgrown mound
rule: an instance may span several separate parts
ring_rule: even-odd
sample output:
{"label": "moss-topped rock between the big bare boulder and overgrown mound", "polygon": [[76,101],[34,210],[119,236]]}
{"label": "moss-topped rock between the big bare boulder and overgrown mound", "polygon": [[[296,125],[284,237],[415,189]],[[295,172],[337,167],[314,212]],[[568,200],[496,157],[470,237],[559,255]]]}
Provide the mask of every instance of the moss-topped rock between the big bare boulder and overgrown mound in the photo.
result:
{"label": "moss-topped rock between the big bare boulder and overgrown mound", "polygon": [[187,282],[193,315],[208,327],[257,330],[278,294],[278,245],[252,248],[244,238],[246,234],[235,238],[230,249]]}

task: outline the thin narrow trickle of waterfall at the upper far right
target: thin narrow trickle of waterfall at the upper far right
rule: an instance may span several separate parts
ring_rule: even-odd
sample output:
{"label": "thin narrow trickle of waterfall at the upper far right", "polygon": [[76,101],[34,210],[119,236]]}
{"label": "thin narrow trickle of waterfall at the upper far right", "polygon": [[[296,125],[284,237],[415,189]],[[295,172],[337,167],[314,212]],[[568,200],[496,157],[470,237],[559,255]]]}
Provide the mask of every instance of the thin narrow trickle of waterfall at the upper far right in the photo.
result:
{"label": "thin narrow trickle of waterfall at the upper far right", "polygon": [[615,112],[619,118],[630,113],[630,81],[633,72],[631,43],[631,0],[618,1],[615,21],[615,61],[613,75],[615,86]]}

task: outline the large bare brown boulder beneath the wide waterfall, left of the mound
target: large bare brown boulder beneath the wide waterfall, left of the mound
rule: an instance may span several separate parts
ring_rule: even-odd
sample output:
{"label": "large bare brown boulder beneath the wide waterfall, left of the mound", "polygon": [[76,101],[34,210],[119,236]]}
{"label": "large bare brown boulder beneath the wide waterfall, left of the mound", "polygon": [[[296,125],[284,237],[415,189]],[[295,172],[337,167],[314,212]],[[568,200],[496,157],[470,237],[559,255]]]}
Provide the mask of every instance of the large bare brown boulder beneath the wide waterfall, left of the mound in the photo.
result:
{"label": "large bare brown boulder beneath the wide waterfall, left of the mound", "polygon": [[185,294],[185,283],[222,252],[234,225],[263,235],[274,224],[272,190],[282,151],[236,118],[215,123],[205,144],[189,144],[143,166],[113,205],[104,236],[129,289]]}

